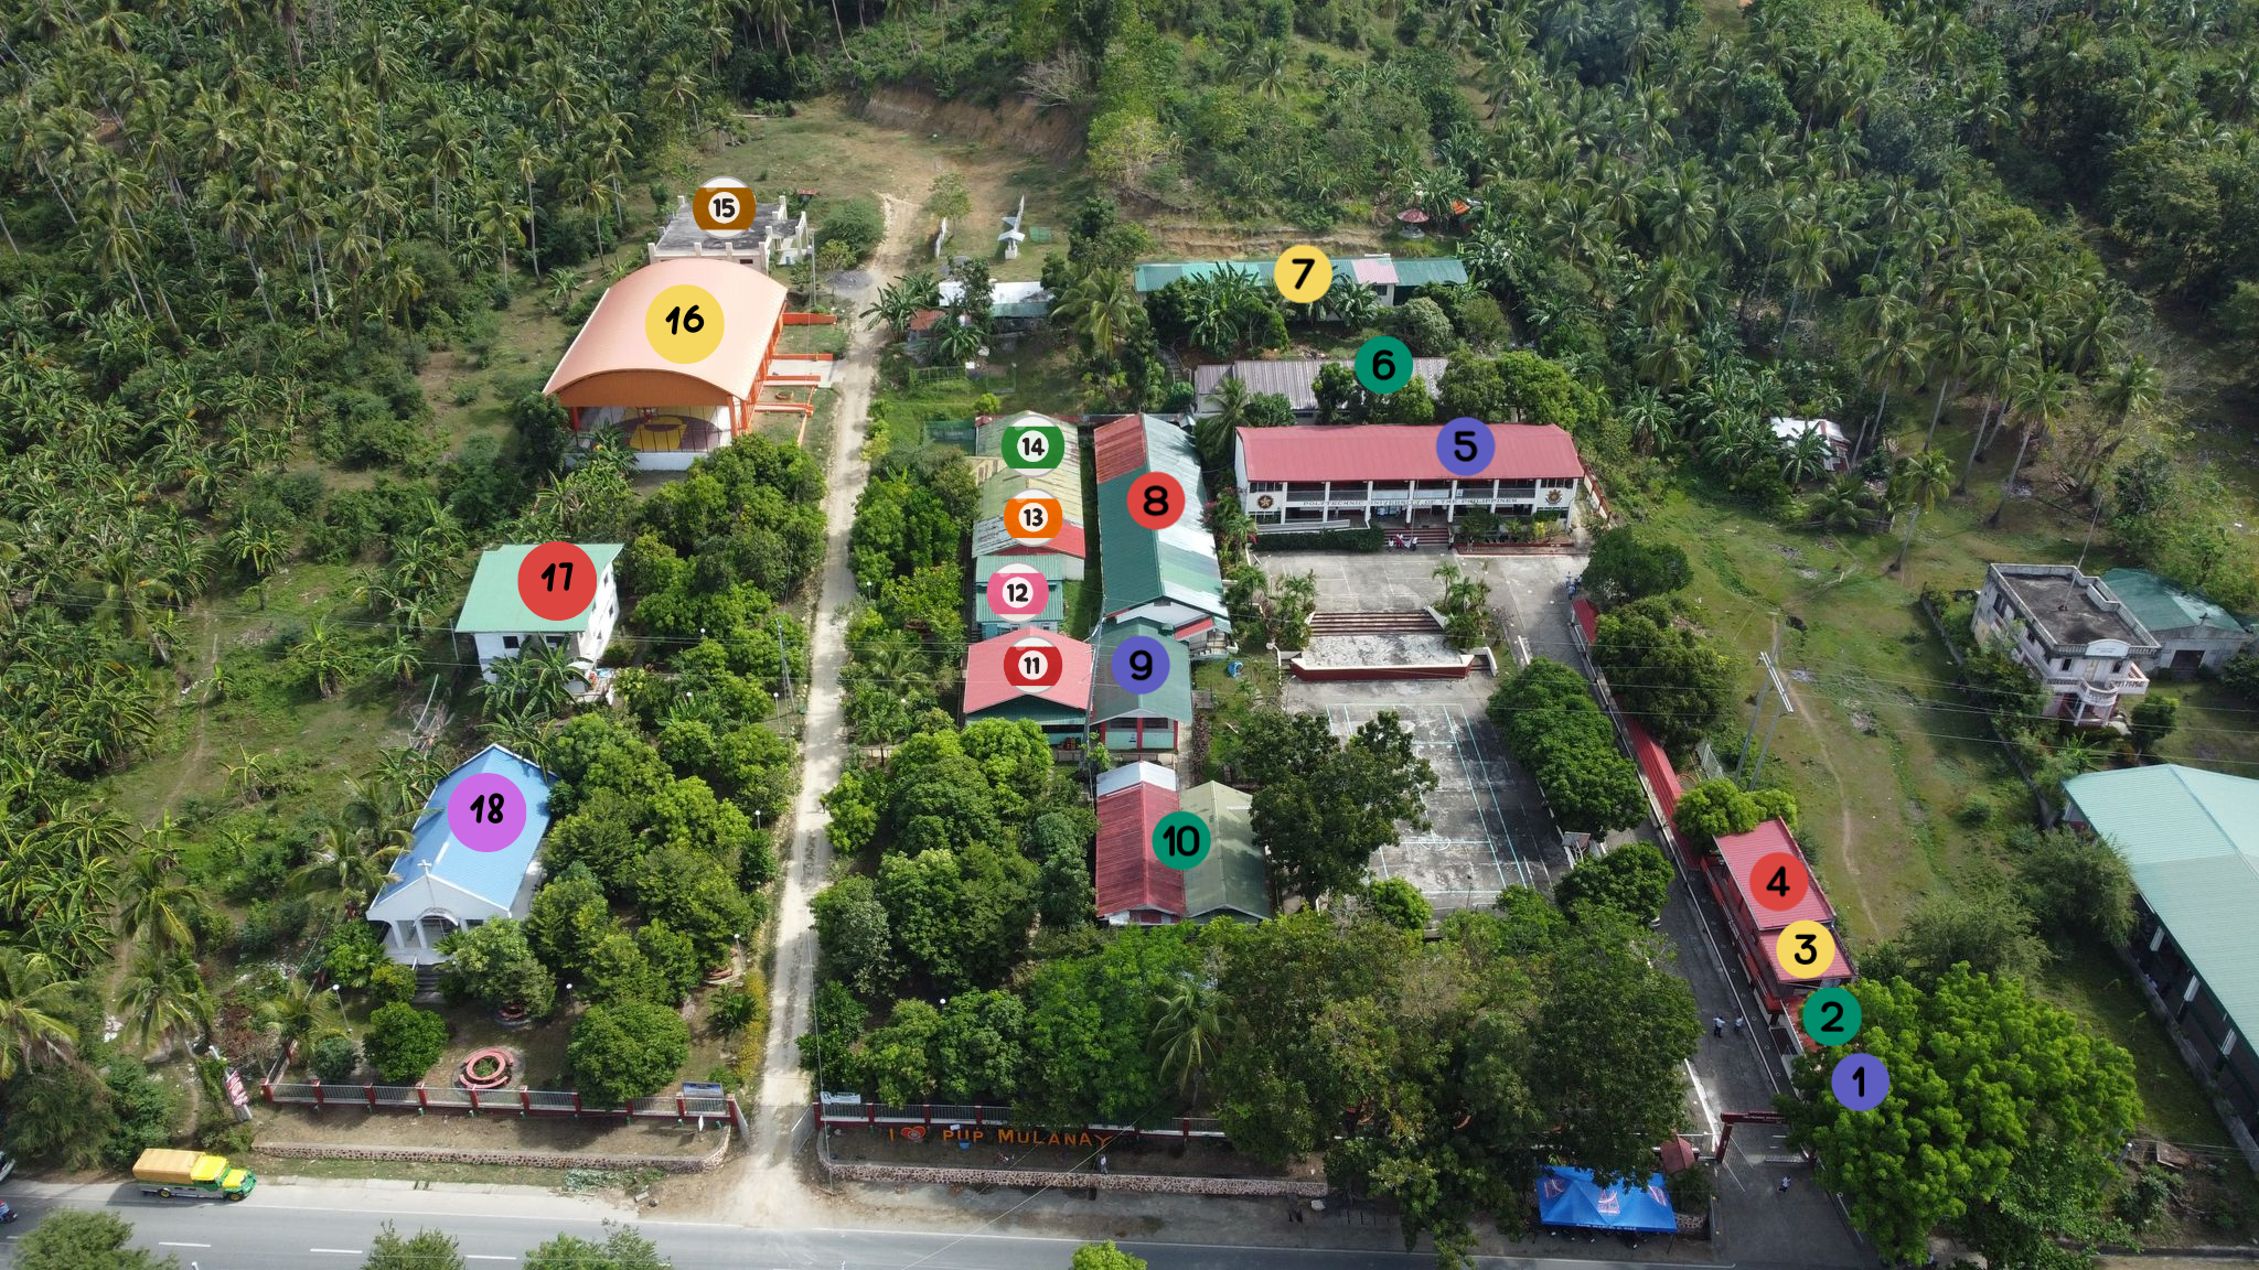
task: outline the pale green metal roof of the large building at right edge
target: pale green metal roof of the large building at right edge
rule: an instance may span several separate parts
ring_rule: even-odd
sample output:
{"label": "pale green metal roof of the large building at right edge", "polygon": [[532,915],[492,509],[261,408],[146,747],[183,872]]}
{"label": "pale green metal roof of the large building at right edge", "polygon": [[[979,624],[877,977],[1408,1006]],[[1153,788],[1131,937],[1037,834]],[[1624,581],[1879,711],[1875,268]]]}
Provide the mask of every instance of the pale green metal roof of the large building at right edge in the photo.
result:
{"label": "pale green metal roof of the large building at right edge", "polygon": [[2259,1028],[2259,780],[2155,764],[2074,775],[2062,793],[2126,856],[2236,1030]]}

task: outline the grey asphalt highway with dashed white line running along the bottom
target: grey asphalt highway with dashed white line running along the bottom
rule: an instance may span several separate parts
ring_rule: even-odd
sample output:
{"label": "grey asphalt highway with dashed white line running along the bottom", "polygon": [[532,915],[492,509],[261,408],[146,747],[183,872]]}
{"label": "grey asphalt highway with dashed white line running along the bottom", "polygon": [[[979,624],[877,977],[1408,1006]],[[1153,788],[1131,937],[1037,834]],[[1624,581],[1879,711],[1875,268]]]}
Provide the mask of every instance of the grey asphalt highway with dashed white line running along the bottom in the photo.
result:
{"label": "grey asphalt highway with dashed white line running along the bottom", "polygon": [[[215,1202],[156,1202],[136,1195],[106,1198],[84,1189],[72,1207],[106,1207],[133,1223],[136,1243],[169,1252],[197,1270],[355,1270],[370,1238],[391,1220],[402,1232],[445,1229],[461,1245],[470,1270],[506,1270],[524,1252],[553,1236],[601,1236],[596,1218],[562,1216],[468,1216],[418,1211],[418,1193],[402,1193],[400,1207],[237,1207]],[[16,1241],[54,1200],[20,1200],[25,1220],[7,1227],[0,1265],[11,1263]],[[956,1236],[876,1229],[766,1232],[718,1223],[637,1223],[675,1270],[1064,1270],[1078,1241],[1032,1236]],[[1152,1270],[1428,1270],[1428,1252],[1322,1252],[1308,1247],[1238,1247],[1197,1243],[1123,1243]],[[1595,1245],[1606,1256],[1615,1245]],[[1484,1256],[1484,1270],[1672,1270],[1672,1261],[1581,1261]],[[1717,1270],[1717,1263],[1699,1263]]]}

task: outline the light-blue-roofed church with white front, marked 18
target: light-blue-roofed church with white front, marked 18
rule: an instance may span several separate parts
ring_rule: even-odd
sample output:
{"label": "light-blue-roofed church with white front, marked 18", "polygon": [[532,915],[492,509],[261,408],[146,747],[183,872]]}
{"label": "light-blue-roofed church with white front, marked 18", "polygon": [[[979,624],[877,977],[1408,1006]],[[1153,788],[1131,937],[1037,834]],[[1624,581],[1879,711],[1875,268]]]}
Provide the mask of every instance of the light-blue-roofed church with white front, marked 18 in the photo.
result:
{"label": "light-blue-roofed church with white front, marked 18", "polygon": [[[526,823],[513,841],[477,852],[447,827],[447,798],[474,775],[508,777],[526,795]],[[368,920],[384,927],[384,954],[407,965],[447,960],[438,940],[450,931],[524,917],[542,884],[535,861],[549,832],[549,775],[540,766],[488,746],[438,782],[416,818],[416,845],[393,861],[391,881],[368,904]]]}

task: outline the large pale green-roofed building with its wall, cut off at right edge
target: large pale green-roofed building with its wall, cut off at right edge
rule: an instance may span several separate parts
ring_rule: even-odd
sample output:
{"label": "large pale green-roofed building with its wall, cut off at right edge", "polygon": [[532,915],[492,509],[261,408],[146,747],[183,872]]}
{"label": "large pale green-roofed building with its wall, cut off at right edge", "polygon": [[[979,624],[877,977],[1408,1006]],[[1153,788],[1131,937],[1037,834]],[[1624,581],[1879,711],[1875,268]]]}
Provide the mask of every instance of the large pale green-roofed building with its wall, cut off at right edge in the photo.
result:
{"label": "large pale green-roofed building with its wall, cut off at right edge", "polygon": [[[2203,1055],[2248,1134],[2259,1134],[2259,780],[2180,764],[2062,782],[2074,825],[2132,870],[2132,947],[2153,1008]],[[2259,1150],[2259,1148],[2254,1148]]]}

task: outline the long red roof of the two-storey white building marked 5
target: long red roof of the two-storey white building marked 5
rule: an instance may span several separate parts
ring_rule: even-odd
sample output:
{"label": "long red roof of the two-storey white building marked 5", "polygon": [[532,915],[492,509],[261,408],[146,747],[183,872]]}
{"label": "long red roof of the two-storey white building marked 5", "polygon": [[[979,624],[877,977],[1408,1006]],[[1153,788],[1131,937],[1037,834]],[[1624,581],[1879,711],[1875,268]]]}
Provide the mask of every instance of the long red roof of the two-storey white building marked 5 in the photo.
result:
{"label": "long red roof of the two-storey white building marked 5", "polygon": [[[1434,452],[1434,427],[1297,425],[1242,427],[1240,454],[1249,481],[1450,481]],[[1584,477],[1577,441],[1552,423],[1493,423],[1498,450],[1477,481]]]}

